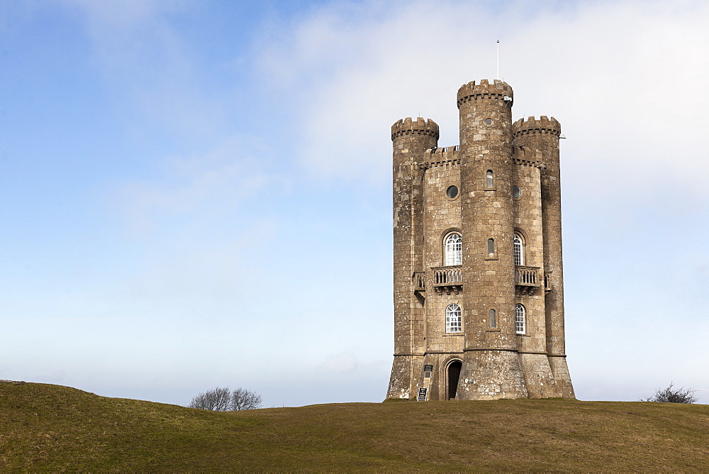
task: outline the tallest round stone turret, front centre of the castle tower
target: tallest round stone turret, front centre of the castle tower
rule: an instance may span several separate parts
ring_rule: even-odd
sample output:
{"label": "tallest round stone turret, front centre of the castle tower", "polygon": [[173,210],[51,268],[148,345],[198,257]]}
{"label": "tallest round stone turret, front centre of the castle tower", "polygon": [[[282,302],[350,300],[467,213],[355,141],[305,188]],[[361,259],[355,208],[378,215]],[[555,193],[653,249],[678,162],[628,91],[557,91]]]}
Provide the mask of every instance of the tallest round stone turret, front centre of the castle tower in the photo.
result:
{"label": "tallest round stone turret, front centre of the castle tower", "polygon": [[[457,95],[465,334],[462,370],[494,373],[508,387],[503,391],[527,397],[515,353],[512,101],[512,87],[498,80],[469,82]],[[496,311],[495,331],[489,331],[489,309]],[[490,390],[474,380],[459,382],[462,399],[489,397]]]}

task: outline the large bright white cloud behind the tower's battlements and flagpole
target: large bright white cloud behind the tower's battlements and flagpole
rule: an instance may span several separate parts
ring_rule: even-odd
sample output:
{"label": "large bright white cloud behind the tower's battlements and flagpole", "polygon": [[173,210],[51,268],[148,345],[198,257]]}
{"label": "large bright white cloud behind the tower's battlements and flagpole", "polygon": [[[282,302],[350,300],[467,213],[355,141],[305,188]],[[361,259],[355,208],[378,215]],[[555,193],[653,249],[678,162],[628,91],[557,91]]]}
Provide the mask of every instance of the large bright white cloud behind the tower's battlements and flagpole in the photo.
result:
{"label": "large bright white cloud behind the tower's battlements and flagpole", "polygon": [[[406,115],[433,118],[441,144],[457,143],[455,92],[492,78],[501,39],[501,75],[517,88],[515,118],[557,116],[572,143],[564,146],[583,158],[567,155],[569,172],[586,172],[593,160],[596,169],[631,175],[635,186],[661,182],[669,163],[693,187],[709,177],[701,146],[709,6],[524,6],[332,4],[299,23],[264,48],[260,66],[274,87],[296,95],[303,163],[319,174],[386,182],[389,126]],[[370,8],[377,14],[363,13]]]}

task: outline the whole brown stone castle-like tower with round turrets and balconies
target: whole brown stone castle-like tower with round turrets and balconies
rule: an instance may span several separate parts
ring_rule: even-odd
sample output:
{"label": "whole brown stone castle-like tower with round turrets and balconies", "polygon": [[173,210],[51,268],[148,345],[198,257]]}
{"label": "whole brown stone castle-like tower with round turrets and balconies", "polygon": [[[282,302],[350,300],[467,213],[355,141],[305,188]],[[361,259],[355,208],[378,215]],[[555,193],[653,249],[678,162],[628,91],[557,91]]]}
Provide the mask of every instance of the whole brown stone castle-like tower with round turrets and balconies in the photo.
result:
{"label": "whole brown stone castle-like tower with round turrets and balconies", "polygon": [[458,91],[393,141],[394,361],[387,397],[574,398],[564,353],[559,122],[512,123],[512,88]]}

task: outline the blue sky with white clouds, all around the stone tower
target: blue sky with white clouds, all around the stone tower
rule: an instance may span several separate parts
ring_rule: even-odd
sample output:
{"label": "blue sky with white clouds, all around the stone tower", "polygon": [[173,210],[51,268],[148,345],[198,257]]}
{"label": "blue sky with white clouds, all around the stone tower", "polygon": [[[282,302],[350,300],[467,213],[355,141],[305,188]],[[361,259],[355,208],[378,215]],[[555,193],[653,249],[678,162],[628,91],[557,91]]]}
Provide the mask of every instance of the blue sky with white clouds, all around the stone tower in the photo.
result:
{"label": "blue sky with white clouds, all around the stone tower", "polygon": [[[543,6],[542,6],[543,5]],[[0,378],[186,404],[380,401],[391,123],[501,76],[562,123],[581,399],[709,403],[709,6],[0,5]]]}

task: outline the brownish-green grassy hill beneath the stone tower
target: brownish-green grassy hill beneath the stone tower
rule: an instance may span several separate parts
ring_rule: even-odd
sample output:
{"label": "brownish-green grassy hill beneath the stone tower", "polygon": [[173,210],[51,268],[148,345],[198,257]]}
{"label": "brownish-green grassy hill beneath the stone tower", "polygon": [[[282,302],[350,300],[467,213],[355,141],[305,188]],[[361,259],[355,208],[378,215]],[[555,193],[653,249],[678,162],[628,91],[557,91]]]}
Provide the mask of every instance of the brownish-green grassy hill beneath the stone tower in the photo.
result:
{"label": "brownish-green grassy hill beneath the stone tower", "polygon": [[207,412],[0,383],[0,470],[708,470],[709,405],[571,400]]}

